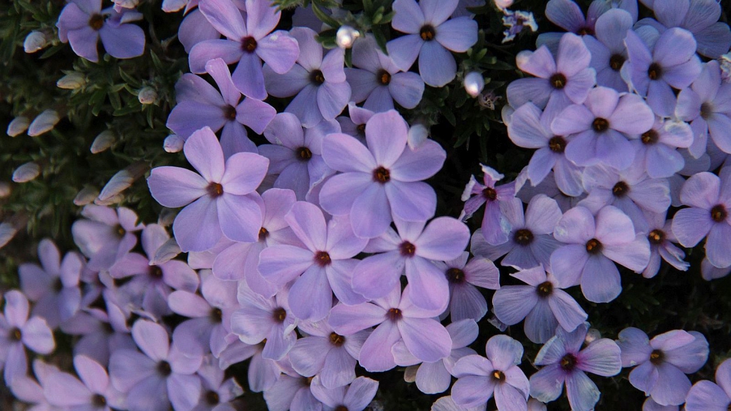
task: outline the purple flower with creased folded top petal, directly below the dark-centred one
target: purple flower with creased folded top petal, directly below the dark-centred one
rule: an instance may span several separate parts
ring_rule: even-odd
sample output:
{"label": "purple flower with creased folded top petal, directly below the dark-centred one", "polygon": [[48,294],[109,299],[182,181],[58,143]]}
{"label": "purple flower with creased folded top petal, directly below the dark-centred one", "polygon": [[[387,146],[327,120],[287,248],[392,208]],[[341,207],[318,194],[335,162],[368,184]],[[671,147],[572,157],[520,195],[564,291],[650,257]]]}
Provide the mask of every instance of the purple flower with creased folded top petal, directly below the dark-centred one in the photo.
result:
{"label": "purple flower with creased folded top petal, directly below the dark-centred one", "polygon": [[493,295],[493,312],[501,323],[514,325],[523,318],[526,336],[537,344],[547,342],[561,325],[574,331],[588,317],[581,306],[541,266],[511,276],[529,285],[504,285]]}

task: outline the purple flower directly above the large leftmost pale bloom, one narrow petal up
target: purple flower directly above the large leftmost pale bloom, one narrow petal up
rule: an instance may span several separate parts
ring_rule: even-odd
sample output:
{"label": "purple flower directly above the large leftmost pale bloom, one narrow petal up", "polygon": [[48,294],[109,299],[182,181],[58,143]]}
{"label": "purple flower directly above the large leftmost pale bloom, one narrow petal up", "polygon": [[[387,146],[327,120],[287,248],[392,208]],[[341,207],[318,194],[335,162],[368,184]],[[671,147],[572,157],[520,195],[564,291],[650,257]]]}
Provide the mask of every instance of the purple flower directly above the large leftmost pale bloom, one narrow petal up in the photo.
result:
{"label": "purple flower directly above the large leftmost pale bloom, one narrow petal up", "polygon": [[203,127],[211,127],[213,132],[222,128],[224,154],[240,151],[256,153],[257,146],[249,139],[244,126],[261,134],[274,118],[276,110],[257,99],[242,100],[223,60],[208,61],[205,71],[216,81],[221,93],[197,75],[184,74],[175,84],[178,104],[167,118],[167,127],[183,138]]}

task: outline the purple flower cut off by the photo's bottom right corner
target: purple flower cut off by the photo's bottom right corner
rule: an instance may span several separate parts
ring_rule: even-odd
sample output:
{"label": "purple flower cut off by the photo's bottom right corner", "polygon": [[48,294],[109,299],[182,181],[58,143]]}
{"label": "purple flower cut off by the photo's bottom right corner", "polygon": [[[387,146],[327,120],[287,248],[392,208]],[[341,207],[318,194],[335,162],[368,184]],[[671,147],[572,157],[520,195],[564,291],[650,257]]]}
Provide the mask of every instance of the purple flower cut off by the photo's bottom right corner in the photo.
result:
{"label": "purple flower cut off by the photo's bottom right corner", "polygon": [[696,382],[686,396],[687,411],[727,411],[731,407],[731,360],[716,369],[716,384]]}

